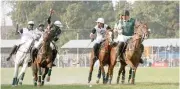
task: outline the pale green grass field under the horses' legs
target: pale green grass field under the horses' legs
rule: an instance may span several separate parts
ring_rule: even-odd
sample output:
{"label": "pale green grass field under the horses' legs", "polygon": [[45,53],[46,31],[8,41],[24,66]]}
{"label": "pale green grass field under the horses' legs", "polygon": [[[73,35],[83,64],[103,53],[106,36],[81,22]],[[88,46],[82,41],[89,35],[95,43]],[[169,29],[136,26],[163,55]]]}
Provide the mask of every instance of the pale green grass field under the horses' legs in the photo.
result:
{"label": "pale green grass field under the horses' legs", "polygon": [[[129,68],[127,68],[128,70]],[[138,68],[136,84],[127,83],[128,71],[126,71],[126,83],[116,84],[118,68],[114,69],[112,85],[96,84],[97,68],[92,76],[92,87],[87,84],[89,68],[53,68],[51,81],[38,89],[178,89],[179,68]],[[1,88],[12,89],[10,85],[13,77],[13,68],[1,68]],[[32,71],[26,71],[23,86],[13,89],[37,89],[32,86]]]}

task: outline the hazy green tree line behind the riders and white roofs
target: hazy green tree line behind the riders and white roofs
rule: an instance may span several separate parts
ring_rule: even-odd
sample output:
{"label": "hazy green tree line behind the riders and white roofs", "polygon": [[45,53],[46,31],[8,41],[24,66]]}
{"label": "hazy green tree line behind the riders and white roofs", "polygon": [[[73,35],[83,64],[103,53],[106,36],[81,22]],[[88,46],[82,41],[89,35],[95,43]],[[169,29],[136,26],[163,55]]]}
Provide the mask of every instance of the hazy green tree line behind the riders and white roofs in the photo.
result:
{"label": "hazy green tree line behind the riders and white roofs", "polygon": [[[52,21],[60,20],[66,29],[60,36],[59,46],[68,40],[89,39],[91,29],[96,25],[99,17],[112,28],[118,21],[119,14],[124,9],[130,11],[130,16],[147,22],[151,29],[150,38],[179,38],[179,2],[178,1],[135,1],[133,4],[126,1],[6,1],[12,8],[8,13],[13,25],[20,27],[27,25],[29,20],[45,23],[50,8],[55,10]],[[9,34],[13,34],[11,29]],[[3,33],[3,31],[1,31]],[[1,33],[1,34],[2,34]],[[14,35],[11,35],[14,36]],[[9,37],[13,38],[13,37]],[[7,38],[8,39],[8,38]]]}

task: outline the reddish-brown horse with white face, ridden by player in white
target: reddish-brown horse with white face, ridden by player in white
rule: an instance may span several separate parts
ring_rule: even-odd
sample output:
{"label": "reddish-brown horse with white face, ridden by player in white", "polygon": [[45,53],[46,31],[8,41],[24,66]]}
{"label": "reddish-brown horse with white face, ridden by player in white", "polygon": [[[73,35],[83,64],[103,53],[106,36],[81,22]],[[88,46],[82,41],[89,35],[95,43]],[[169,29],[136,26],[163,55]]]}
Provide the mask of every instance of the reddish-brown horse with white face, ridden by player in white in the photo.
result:
{"label": "reddish-brown horse with white face, ridden by player in white", "polygon": [[[98,72],[98,80],[96,81],[96,83],[99,83],[99,79],[101,77],[101,71],[102,71],[102,76],[103,76],[103,84],[105,84],[107,82],[107,77],[105,77],[105,70],[104,70],[104,66],[105,65],[110,65],[110,43],[112,41],[112,31],[111,30],[106,30],[105,33],[105,40],[102,42],[101,47],[99,49],[99,72]],[[92,77],[92,72],[93,72],[93,67],[95,62],[97,61],[97,58],[95,58],[94,56],[94,51],[91,51],[91,57],[90,57],[90,71],[89,71],[89,76],[88,76],[88,83],[90,83],[91,81],[91,77]],[[109,68],[108,68],[109,70]],[[108,76],[109,73],[107,73]]]}

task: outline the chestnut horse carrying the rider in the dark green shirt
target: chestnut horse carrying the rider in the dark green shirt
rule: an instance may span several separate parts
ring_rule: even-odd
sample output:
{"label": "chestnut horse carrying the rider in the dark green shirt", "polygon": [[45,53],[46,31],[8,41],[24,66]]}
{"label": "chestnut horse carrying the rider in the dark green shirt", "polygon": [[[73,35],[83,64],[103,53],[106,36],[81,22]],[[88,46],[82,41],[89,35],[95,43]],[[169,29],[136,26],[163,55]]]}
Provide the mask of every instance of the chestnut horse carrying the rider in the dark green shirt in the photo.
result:
{"label": "chestnut horse carrying the rider in the dark green shirt", "polygon": [[131,80],[131,84],[135,82],[135,74],[137,67],[140,62],[142,54],[142,42],[144,39],[148,38],[149,31],[146,23],[139,23],[135,25],[135,32],[131,39],[128,40],[127,48],[125,53],[120,55],[120,58],[125,60],[120,60],[121,67],[118,72],[117,83],[119,83],[120,74],[122,73],[122,83],[125,80],[125,66],[130,65],[128,82]]}

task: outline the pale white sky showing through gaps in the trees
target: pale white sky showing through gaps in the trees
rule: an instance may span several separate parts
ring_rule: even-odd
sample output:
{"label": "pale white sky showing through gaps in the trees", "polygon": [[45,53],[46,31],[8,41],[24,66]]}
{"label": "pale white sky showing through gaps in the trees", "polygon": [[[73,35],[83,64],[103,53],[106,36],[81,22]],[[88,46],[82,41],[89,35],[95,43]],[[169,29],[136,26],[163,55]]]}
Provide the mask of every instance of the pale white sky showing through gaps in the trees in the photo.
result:
{"label": "pale white sky showing through gaps in the trees", "polygon": [[[115,2],[117,2],[119,0],[112,0],[112,3],[115,5]],[[134,3],[135,0],[127,0],[130,3]],[[2,6],[1,6],[2,7]],[[10,8],[10,6],[8,5],[4,5],[4,9],[1,8],[2,10],[2,17],[4,16],[5,18],[5,25],[6,26],[12,26],[12,20],[10,16],[7,16],[7,13],[10,12],[12,10],[12,8]]]}

